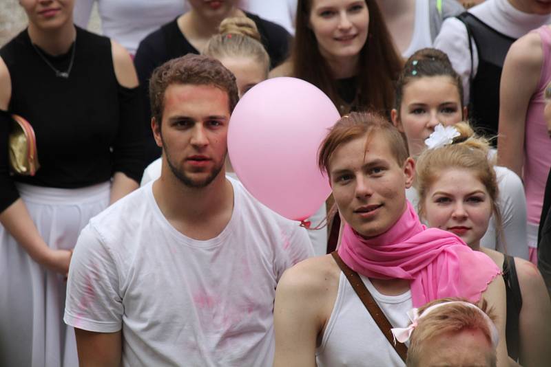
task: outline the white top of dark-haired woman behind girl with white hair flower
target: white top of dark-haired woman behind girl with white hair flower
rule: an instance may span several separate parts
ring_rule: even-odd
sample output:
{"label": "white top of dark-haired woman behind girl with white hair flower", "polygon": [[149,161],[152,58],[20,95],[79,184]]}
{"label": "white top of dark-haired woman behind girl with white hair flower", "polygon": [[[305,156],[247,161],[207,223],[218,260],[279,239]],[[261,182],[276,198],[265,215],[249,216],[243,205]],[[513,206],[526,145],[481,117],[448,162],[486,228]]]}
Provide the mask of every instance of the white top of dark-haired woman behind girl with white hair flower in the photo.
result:
{"label": "white top of dark-haired woman behind girl with white hair flower", "polygon": [[[499,238],[497,235],[495,218],[492,216],[490,223],[488,223],[488,230],[480,240],[480,245],[528,260],[526,197],[524,196],[522,181],[509,168],[494,166],[494,169],[499,189],[497,205],[501,210],[503,238]],[[406,198],[417,210],[417,204],[419,203],[417,190],[413,187],[408,188]]]}

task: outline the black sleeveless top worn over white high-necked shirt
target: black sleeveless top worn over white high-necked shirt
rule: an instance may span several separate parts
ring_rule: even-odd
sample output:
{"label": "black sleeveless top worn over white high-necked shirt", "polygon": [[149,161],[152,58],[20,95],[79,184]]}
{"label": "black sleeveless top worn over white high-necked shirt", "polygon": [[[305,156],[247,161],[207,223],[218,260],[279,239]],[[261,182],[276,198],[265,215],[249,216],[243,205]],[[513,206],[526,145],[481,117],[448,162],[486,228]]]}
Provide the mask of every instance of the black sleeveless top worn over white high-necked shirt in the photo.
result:
{"label": "black sleeveless top worn over white high-necked shirt", "polygon": [[481,132],[489,137],[494,137],[497,135],[499,122],[501,71],[509,47],[517,40],[497,32],[470,12],[464,12],[457,18],[465,24],[469,34],[471,70],[472,45],[470,37],[475,40],[478,51],[477,75],[470,80],[470,120],[481,129]]}

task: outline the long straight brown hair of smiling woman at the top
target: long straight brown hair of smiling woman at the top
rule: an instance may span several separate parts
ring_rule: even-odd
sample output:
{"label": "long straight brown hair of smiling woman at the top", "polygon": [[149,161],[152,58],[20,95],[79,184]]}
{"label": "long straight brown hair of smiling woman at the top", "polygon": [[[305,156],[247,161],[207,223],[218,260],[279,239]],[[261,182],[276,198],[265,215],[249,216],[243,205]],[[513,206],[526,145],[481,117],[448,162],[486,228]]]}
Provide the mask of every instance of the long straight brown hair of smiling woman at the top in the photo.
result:
{"label": "long straight brown hair of smiling woman at the top", "polygon": [[[311,82],[339,106],[342,100],[337,93],[333,71],[320,54],[318,41],[309,27],[312,1],[298,0],[295,41],[291,54],[293,76]],[[353,107],[388,115],[393,106],[394,82],[402,69],[402,58],[395,49],[377,1],[364,1],[369,11],[368,38],[360,50],[358,95]]]}

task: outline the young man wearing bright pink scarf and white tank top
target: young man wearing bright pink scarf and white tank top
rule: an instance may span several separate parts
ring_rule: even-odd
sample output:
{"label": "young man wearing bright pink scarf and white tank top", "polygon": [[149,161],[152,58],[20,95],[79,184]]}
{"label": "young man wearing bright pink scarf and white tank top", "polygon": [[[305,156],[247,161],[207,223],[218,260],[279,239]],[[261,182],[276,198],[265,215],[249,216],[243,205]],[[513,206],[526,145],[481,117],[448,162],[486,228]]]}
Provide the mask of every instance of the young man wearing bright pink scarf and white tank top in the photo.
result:
{"label": "young man wearing bright pink scarf and white tank top", "polygon": [[432,300],[486,299],[497,315],[497,366],[507,366],[500,270],[455,234],[419,222],[405,194],[415,163],[395,127],[378,115],[346,115],[322,143],[319,164],[346,223],[342,242],[338,256],[304,260],[280,280],[274,366],[405,366],[390,330],[347,279],[354,271],[362,280],[354,287],[365,285],[391,327],[407,326],[407,311]]}

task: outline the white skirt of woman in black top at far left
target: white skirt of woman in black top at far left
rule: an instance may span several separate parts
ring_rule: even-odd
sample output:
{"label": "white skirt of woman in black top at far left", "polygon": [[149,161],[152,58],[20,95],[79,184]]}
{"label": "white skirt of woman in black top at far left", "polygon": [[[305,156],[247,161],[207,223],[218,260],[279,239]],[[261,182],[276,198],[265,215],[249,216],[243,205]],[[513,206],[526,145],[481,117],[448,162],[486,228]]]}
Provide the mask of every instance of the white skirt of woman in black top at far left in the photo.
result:
{"label": "white skirt of woman in black top at far left", "polygon": [[[72,249],[109,204],[110,183],[79,189],[17,184],[34,225],[52,249]],[[0,225],[0,366],[78,366],[74,331],[63,323],[65,280],[30,258]]]}

